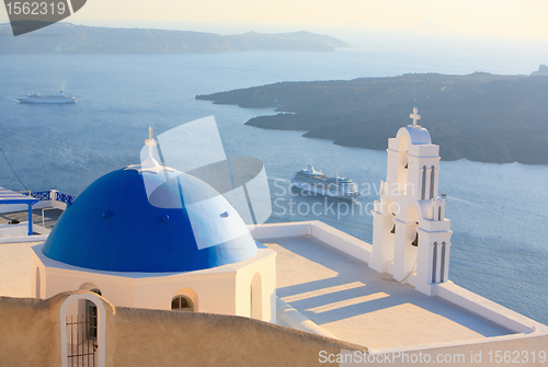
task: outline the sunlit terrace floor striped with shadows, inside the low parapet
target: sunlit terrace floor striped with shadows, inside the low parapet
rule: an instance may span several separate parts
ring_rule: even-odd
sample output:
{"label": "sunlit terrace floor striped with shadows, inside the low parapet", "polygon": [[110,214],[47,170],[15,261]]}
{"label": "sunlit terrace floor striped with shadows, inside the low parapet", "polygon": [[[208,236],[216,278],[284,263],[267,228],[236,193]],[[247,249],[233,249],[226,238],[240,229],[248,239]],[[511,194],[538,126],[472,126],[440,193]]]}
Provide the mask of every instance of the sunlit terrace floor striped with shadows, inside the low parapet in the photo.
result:
{"label": "sunlit terrace floor striped with shadows, inside the low parapet", "polygon": [[388,348],[512,333],[397,283],[313,237],[262,241],[278,253],[277,296],[345,342]]}

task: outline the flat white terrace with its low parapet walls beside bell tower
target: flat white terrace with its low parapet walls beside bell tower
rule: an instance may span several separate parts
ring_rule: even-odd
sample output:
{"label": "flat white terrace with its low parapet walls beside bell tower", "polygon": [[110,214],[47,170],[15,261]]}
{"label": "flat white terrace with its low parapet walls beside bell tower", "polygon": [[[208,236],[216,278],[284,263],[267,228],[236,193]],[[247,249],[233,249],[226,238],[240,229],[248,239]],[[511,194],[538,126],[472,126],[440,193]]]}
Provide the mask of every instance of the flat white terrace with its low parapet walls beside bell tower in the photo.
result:
{"label": "flat white terrace with its low parapet walls beside bell tower", "polygon": [[377,273],[367,266],[370,244],[321,221],[263,225],[252,233],[278,253],[276,295],[294,314],[288,317],[278,307],[277,318],[295,329],[369,349],[400,351],[513,341],[548,332],[452,282],[434,285],[429,297]]}

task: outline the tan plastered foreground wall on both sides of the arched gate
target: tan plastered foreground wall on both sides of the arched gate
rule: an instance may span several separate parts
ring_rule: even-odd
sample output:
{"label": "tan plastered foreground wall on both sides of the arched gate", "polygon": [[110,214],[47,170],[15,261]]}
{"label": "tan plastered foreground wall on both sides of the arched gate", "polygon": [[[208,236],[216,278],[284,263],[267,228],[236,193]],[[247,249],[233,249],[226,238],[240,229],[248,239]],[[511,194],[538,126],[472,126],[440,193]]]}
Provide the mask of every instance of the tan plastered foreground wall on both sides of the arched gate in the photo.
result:
{"label": "tan plastered foreground wall on both sides of the arched gate", "polygon": [[[60,310],[75,294],[88,293],[47,300],[1,297],[0,366],[61,366]],[[243,317],[113,307],[101,300],[105,366],[313,366],[320,351],[366,351]]]}

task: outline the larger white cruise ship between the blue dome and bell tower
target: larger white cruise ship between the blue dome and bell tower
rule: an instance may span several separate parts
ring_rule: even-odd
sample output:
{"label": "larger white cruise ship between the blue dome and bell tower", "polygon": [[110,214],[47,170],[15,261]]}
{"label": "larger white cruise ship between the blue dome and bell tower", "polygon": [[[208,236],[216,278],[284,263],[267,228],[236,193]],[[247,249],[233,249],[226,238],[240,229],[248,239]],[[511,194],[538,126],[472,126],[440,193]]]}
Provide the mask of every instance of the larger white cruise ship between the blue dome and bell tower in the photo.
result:
{"label": "larger white cruise ship between the blue dome and bell tower", "polygon": [[297,171],[292,177],[292,186],[336,198],[353,200],[359,196],[352,180],[341,177],[336,173],[334,177],[327,176],[321,171],[316,171],[312,165]]}

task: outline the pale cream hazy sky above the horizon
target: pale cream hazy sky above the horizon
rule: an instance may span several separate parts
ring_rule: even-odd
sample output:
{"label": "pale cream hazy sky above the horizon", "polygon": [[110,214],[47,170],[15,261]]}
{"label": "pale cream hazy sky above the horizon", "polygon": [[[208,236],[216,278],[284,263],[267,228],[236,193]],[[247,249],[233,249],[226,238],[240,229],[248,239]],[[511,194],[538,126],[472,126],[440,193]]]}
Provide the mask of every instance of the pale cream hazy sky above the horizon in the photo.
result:
{"label": "pale cream hazy sky above the horizon", "polygon": [[[458,33],[548,38],[548,0],[88,0],[68,22],[210,22],[406,27],[425,20]],[[7,21],[5,10],[0,21]],[[255,30],[260,31],[260,30]]]}

